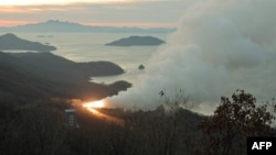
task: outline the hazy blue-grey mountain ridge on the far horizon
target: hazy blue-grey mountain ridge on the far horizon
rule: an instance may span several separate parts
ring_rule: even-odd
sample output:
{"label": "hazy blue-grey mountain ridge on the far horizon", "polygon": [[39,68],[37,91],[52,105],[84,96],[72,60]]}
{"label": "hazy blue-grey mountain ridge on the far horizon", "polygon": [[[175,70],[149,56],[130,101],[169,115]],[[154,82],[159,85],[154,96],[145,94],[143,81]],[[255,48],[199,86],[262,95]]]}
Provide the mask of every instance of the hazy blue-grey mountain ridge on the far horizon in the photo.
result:
{"label": "hazy blue-grey mountain ridge on the far horizon", "polygon": [[46,22],[1,27],[0,32],[144,32],[144,33],[170,33],[174,29],[169,27],[116,27],[116,26],[89,26],[78,23],[49,20]]}

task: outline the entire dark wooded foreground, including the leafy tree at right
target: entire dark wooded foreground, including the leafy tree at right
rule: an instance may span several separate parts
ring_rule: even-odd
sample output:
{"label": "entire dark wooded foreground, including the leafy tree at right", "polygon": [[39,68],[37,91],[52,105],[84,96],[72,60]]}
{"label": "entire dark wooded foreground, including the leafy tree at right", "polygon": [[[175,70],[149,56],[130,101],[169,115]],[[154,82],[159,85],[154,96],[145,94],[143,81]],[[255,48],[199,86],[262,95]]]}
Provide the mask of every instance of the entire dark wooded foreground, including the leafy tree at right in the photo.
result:
{"label": "entire dark wooded foreground, including the leafy tree at right", "polygon": [[[169,101],[169,100],[167,100]],[[246,154],[247,136],[275,136],[275,101],[256,106],[242,90],[222,97],[213,115],[205,117],[168,102],[152,111],[102,109],[124,124],[97,118],[82,107],[79,128],[64,125],[66,100],[0,99],[0,153],[40,155],[230,155]],[[168,109],[169,108],[169,109]],[[274,107],[275,108],[275,107]]]}

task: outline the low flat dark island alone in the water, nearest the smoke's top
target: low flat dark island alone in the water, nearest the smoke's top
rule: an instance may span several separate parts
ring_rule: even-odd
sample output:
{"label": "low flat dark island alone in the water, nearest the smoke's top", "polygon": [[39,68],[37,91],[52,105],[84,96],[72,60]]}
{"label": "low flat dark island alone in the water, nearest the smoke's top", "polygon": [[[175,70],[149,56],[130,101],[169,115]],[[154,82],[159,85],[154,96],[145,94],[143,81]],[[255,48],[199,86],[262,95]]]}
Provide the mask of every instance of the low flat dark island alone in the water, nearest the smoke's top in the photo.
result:
{"label": "low flat dark island alone in the water, nearest the smoke's top", "polygon": [[158,46],[163,44],[164,41],[153,36],[129,36],[124,37],[105,45],[108,46]]}

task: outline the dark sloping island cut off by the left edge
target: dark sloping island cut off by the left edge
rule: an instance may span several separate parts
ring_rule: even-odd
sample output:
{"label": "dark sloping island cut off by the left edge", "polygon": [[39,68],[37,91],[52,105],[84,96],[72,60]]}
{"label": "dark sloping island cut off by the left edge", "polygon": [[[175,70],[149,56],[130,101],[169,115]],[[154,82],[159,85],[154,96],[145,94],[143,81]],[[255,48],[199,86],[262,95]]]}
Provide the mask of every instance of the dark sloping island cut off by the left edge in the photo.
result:
{"label": "dark sloping island cut off by the left edge", "polygon": [[7,33],[0,36],[0,51],[51,52],[55,49],[56,47],[52,45],[44,45],[39,42],[22,40],[12,33]]}

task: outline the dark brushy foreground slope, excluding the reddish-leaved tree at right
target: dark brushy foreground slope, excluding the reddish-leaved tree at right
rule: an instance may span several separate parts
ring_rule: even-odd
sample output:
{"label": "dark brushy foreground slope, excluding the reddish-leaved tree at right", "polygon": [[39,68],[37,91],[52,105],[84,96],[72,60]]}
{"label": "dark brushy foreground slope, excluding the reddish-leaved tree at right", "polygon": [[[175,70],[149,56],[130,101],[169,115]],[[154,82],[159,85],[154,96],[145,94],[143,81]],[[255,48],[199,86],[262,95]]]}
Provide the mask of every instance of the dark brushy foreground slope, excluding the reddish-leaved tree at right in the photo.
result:
{"label": "dark brushy foreground slope, excluding the reddish-leaved tree at right", "polygon": [[170,117],[162,108],[147,112],[102,110],[123,119],[123,125],[78,107],[79,128],[72,129],[64,125],[64,109],[70,107],[62,100],[0,106],[1,154],[166,155],[194,153],[192,145],[200,142],[197,124],[202,117],[187,110]]}

